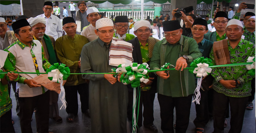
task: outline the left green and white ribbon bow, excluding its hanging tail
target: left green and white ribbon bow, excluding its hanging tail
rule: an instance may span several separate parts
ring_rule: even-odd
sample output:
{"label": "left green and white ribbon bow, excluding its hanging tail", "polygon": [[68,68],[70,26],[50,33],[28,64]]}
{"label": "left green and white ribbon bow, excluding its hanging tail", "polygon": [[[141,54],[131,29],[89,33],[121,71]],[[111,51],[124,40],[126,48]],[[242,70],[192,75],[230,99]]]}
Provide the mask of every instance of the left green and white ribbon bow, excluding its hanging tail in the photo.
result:
{"label": "left green and white ribbon bow, excluding its hanging tail", "polygon": [[[70,75],[70,69],[65,67],[66,65],[61,63],[54,63],[49,69],[46,69],[46,74],[48,74],[48,79],[53,82],[59,83],[59,80],[67,80]],[[57,77],[56,77],[57,76]],[[57,81],[56,81],[57,78]]]}

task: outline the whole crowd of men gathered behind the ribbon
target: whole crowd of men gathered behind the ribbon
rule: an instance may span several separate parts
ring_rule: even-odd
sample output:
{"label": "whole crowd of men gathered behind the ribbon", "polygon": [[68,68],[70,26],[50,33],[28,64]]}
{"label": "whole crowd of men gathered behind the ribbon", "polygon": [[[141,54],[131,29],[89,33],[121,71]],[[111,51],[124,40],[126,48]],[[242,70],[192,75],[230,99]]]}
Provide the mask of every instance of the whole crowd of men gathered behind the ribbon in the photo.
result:
{"label": "whole crowd of men gathered behind the ribbon", "polygon": [[[44,13],[36,17],[22,15],[11,24],[10,18],[0,17],[0,66],[8,72],[0,74],[0,132],[15,132],[11,86],[22,133],[32,133],[33,113],[38,133],[49,132],[49,118],[57,123],[63,121],[64,116],[59,116],[59,94],[38,87],[34,78],[40,74],[27,74],[45,73],[54,63],[63,63],[71,73],[82,73],[70,75],[64,85],[67,121],[74,121],[81,109],[91,118],[91,132],[125,133],[127,120],[131,124],[136,115],[138,121],[133,130],[138,132],[143,124],[150,131],[158,132],[153,115],[157,93],[163,133],[174,133],[174,129],[176,133],[185,133],[197,84],[196,76],[185,68],[199,57],[211,59],[213,65],[222,65],[244,63],[255,56],[255,14],[246,12],[244,26],[240,21],[245,3],[240,4],[231,19],[225,11],[217,11],[213,23],[194,15],[193,7],[184,8],[185,13],[180,11],[183,21],[180,23],[175,17],[178,8],[172,11],[172,18],[161,14],[153,21],[149,17],[133,21],[127,16],[102,18],[97,8],[87,9],[85,1],[77,3],[78,11],[75,6],[69,5],[72,17],[64,15],[62,23],[59,7],[50,1],[44,3]],[[216,31],[207,33],[208,24]],[[152,29],[157,29],[154,34],[161,34],[160,27],[165,38],[151,37]],[[134,35],[128,33],[131,28]],[[141,82],[136,88],[124,85],[120,81],[122,74],[91,74],[108,73],[124,63],[147,63],[150,70],[159,70],[170,63],[167,69],[175,70],[149,73],[149,81]],[[140,91],[140,102],[133,102],[133,91]],[[213,132],[224,133],[229,116],[229,133],[240,133],[245,109],[253,109],[255,74],[249,74],[243,65],[213,68],[203,78],[200,94],[193,121],[196,133],[204,132],[211,117]],[[135,111],[133,104],[136,104]]]}

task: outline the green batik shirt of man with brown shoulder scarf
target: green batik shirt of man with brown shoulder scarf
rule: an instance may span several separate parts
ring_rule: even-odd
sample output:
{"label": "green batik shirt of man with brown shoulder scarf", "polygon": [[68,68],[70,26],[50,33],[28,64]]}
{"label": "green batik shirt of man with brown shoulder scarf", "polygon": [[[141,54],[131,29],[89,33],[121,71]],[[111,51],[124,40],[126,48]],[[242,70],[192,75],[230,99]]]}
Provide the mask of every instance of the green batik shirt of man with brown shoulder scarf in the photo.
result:
{"label": "green batik shirt of man with brown shoulder scarf", "polygon": [[[244,39],[241,39],[234,49],[230,46],[228,41],[228,48],[231,64],[244,63],[249,56],[255,56],[255,44]],[[213,50],[211,50],[210,59],[213,65],[216,65]],[[211,75],[215,79],[212,83],[213,89],[218,93],[223,93],[229,97],[248,97],[251,95],[251,80],[255,75],[249,75],[245,65],[213,68]],[[222,79],[237,80],[240,82],[240,85],[233,89],[226,89],[226,87],[219,83]]]}

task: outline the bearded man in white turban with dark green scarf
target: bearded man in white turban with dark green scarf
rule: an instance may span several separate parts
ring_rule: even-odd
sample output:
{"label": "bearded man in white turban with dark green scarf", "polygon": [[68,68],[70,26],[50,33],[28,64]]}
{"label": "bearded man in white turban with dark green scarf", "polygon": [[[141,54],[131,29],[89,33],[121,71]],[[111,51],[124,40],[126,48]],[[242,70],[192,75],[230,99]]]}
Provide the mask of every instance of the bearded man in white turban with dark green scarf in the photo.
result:
{"label": "bearded man in white turban with dark green scarf", "polygon": [[[54,50],[55,40],[52,36],[48,36],[44,33],[45,24],[46,24],[45,18],[30,17],[27,21],[32,27],[32,31],[34,35],[33,39],[39,40],[44,48],[44,58],[47,59],[50,64],[58,63],[55,50]],[[55,122],[62,122],[62,118],[59,116],[59,106],[58,106],[59,94],[52,90],[49,90],[49,91],[50,91],[50,118],[52,118]]]}

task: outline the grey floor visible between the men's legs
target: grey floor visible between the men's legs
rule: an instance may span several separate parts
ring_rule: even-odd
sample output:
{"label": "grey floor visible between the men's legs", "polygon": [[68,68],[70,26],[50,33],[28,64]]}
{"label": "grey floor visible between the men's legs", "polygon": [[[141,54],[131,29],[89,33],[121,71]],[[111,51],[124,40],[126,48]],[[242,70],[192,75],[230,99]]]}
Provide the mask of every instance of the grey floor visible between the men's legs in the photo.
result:
{"label": "grey floor visible between the men's legs", "polygon": [[[20,131],[20,118],[16,116],[16,101],[14,92],[11,90],[11,98],[12,98],[12,119],[14,120],[14,128],[16,133],[21,133]],[[78,99],[80,99],[78,97]],[[62,103],[59,100],[59,107],[62,105]],[[86,115],[83,114],[80,110],[80,101],[79,101],[79,111],[78,116],[75,117],[75,120],[73,122],[66,121],[67,113],[65,110],[59,110],[60,116],[63,118],[62,123],[55,123],[52,119],[49,119],[49,132],[54,133],[91,133],[91,119]],[[253,101],[253,105],[255,106],[255,100]],[[174,110],[175,113],[175,110]],[[175,118],[174,114],[174,120]],[[190,120],[188,125],[187,133],[195,133],[195,125],[193,124],[193,120],[196,117],[196,111],[195,111],[195,103],[191,104],[191,111],[190,111]],[[33,114],[33,121],[31,122],[31,126],[33,129],[33,133],[36,133],[36,123],[35,123],[35,115]],[[160,107],[157,99],[157,95],[155,97],[154,101],[154,125],[158,128],[158,133],[162,133],[161,130],[161,118],[160,118]],[[225,133],[228,133],[230,129],[230,118],[227,118],[228,126],[225,128]],[[172,126],[172,125],[170,125]],[[140,129],[140,133],[152,133],[147,128],[144,128],[142,126]],[[208,124],[205,127],[204,133],[211,133],[213,132],[213,120],[210,120]],[[127,123],[127,132],[131,133],[131,126]],[[253,110],[246,110],[245,116],[244,116],[244,123],[241,133],[255,133],[255,108]]]}

